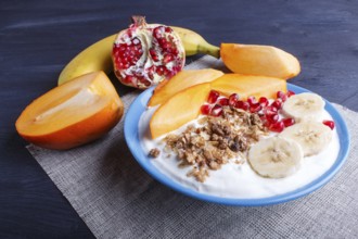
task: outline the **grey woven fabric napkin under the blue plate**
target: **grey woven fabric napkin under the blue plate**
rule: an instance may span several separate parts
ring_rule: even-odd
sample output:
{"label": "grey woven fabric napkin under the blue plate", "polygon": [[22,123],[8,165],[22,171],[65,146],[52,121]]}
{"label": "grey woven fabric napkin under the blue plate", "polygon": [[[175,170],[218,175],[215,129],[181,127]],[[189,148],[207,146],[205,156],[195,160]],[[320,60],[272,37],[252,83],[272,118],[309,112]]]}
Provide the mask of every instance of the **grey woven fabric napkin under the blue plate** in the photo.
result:
{"label": "grey woven fabric napkin under the blue plate", "polygon": [[[222,67],[205,56],[188,68]],[[138,96],[123,97],[126,109]],[[124,120],[105,137],[69,151],[28,150],[98,238],[358,238],[358,113],[334,104],[351,138],[343,168],[323,188],[283,204],[225,206],[155,181],[124,139]]]}

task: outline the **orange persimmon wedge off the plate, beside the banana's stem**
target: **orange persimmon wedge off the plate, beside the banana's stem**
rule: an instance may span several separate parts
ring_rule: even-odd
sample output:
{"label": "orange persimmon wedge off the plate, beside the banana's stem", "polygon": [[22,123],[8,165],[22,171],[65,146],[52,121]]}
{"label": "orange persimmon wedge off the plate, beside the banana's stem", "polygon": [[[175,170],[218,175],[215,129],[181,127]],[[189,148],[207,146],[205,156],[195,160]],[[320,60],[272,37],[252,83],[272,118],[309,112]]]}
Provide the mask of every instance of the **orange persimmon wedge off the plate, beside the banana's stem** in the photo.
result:
{"label": "orange persimmon wedge off the plate, beside the banana's stem", "polygon": [[221,43],[220,55],[234,73],[287,79],[301,72],[295,56],[271,46]]}

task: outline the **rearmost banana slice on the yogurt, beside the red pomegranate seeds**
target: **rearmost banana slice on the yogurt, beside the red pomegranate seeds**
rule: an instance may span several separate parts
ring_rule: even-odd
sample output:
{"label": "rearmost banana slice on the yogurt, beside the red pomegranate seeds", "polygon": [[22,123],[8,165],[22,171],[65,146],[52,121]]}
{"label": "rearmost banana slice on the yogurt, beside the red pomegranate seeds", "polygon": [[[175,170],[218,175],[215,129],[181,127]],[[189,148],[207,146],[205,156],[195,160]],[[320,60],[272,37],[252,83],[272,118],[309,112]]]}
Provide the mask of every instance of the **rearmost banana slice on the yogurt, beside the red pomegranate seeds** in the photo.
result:
{"label": "rearmost banana slice on the yogurt, beside the red pomegranate seeds", "polygon": [[283,103],[282,112],[296,122],[317,120],[321,117],[324,104],[324,100],[317,93],[298,93]]}

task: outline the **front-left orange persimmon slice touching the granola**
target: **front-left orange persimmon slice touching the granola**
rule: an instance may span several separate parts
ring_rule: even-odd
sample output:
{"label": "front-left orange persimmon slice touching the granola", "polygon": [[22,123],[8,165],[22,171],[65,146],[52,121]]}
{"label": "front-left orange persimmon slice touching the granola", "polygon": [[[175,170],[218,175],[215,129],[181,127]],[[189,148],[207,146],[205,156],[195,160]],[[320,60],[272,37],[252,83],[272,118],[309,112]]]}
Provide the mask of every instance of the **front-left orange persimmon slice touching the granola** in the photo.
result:
{"label": "front-left orange persimmon slice touching the granola", "polygon": [[157,138],[195,120],[209,91],[209,83],[195,85],[176,93],[162,104],[150,122],[152,138]]}

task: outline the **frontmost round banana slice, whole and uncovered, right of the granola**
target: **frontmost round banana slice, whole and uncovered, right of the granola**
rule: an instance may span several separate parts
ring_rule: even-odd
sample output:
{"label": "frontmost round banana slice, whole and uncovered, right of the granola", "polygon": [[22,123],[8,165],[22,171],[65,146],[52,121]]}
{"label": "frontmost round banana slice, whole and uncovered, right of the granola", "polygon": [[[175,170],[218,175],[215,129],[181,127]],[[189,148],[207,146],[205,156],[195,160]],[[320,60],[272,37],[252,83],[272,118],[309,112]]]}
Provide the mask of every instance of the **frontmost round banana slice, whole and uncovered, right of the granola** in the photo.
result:
{"label": "frontmost round banana slice, whole and uncovered, right of the granola", "polygon": [[299,169],[303,156],[297,142],[271,137],[252,146],[247,159],[257,174],[264,177],[282,178]]}

